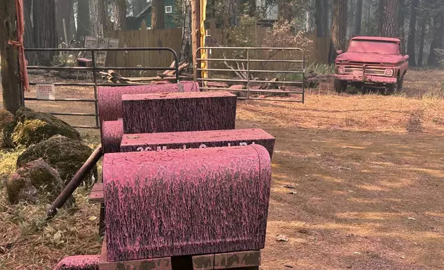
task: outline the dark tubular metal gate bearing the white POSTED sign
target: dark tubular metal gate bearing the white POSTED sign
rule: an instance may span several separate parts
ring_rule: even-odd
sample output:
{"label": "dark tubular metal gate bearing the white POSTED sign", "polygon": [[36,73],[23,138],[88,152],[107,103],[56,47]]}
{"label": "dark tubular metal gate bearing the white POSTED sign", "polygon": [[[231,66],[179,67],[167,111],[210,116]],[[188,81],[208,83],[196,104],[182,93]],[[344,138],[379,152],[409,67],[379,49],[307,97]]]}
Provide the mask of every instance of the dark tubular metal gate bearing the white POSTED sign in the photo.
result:
{"label": "dark tubular metal gate bearing the white POSTED sign", "polygon": [[[132,51],[169,51],[174,56],[174,67],[97,67],[95,52],[132,52]],[[73,127],[82,128],[99,128],[99,107],[97,104],[97,86],[125,86],[133,85],[128,83],[97,83],[97,72],[101,70],[175,70],[176,83],[179,81],[179,57],[172,48],[30,48],[25,49],[25,52],[90,52],[91,53],[91,67],[46,67],[39,65],[28,65],[28,70],[58,70],[58,71],[92,71],[92,83],[51,83],[57,86],[90,86],[94,87],[94,98],[56,98],[55,100],[45,100],[35,98],[23,98],[24,101],[62,101],[62,102],[85,102],[94,103],[94,114],[88,112],[50,112],[50,114],[61,116],[94,116],[95,125],[72,125]],[[30,82],[30,85],[37,85],[39,83]],[[143,83],[141,83],[143,85]]]}

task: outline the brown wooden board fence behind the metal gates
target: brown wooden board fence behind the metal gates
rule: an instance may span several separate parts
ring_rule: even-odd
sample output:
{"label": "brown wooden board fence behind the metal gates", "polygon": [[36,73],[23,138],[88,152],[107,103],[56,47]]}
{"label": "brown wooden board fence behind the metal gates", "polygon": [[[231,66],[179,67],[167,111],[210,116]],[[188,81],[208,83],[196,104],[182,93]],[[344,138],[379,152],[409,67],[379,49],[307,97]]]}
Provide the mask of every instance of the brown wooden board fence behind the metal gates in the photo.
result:
{"label": "brown wooden board fence behind the metal gates", "polygon": [[[257,43],[261,46],[263,39],[266,38],[266,28],[258,27],[252,28],[252,34],[257,39]],[[119,47],[169,47],[180,54],[181,51],[181,34],[182,30],[164,29],[164,30],[114,30],[105,33],[105,37],[113,39],[119,39]],[[210,30],[212,39],[217,40],[217,44],[220,46],[228,46],[229,42],[229,29],[216,28]],[[328,53],[330,48],[330,39],[318,38],[316,33],[308,33],[307,38],[313,41],[310,51],[305,52],[307,65],[310,63],[327,63]],[[225,54],[225,55],[224,55]],[[226,58],[242,58],[245,57],[241,50],[236,52],[228,52],[226,50],[212,50],[210,55],[213,59]],[[272,52],[258,52],[253,57],[250,55],[250,59],[267,59]],[[179,55],[180,58],[180,55]],[[288,55],[284,52],[279,52],[272,56],[271,59],[299,59],[298,55]],[[106,65],[108,66],[122,66],[122,67],[136,67],[137,65],[146,67],[168,67],[174,60],[170,52],[108,52]],[[231,63],[230,63],[231,64]],[[213,63],[212,68],[225,65],[225,63]],[[236,64],[234,64],[236,65]],[[261,63],[254,63],[250,66],[251,69],[261,68],[265,70],[285,70],[290,68],[285,63],[270,63],[267,67],[261,67]],[[125,73],[125,75],[131,76],[155,76],[156,72],[131,72],[131,74]]]}

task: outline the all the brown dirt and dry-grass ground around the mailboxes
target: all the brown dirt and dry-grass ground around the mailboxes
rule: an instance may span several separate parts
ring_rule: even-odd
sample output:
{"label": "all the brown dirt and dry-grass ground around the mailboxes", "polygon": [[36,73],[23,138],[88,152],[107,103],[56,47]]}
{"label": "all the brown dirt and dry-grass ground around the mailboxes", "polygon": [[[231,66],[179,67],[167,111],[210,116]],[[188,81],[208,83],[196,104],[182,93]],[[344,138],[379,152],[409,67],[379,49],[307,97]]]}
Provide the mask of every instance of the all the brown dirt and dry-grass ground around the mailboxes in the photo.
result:
{"label": "all the brown dirt and dry-grass ground around the mailboxes", "polygon": [[[394,96],[338,95],[323,83],[305,104],[239,101],[237,128],[276,137],[264,270],[444,269],[443,78],[444,71],[412,71]],[[75,87],[57,95],[93,97]],[[28,105],[94,112],[85,103]],[[94,124],[93,117],[63,119]],[[97,129],[81,132],[99,143]],[[18,217],[33,208],[2,202],[0,269],[50,269],[63,256],[99,253],[99,209],[85,194],[77,193],[79,211],[59,216],[49,232],[23,231],[26,218]],[[57,230],[62,243],[54,243]],[[1,242],[14,245],[3,252]]]}

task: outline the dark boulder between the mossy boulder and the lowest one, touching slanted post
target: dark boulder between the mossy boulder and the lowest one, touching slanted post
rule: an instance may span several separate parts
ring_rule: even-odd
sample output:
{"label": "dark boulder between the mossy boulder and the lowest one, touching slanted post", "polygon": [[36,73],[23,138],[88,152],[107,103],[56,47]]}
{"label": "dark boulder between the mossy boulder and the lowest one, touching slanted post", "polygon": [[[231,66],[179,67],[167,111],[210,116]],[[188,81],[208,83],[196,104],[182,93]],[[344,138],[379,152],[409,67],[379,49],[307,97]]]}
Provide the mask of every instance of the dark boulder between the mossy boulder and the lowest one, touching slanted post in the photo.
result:
{"label": "dark boulder between the mossy boulder and the lowest one, touching slanted post", "polygon": [[[41,158],[59,172],[61,179],[66,184],[91,154],[92,149],[88,145],[72,138],[56,135],[26,149],[17,158],[17,168]],[[97,167],[94,167],[85,180],[91,179],[92,174],[97,179]]]}

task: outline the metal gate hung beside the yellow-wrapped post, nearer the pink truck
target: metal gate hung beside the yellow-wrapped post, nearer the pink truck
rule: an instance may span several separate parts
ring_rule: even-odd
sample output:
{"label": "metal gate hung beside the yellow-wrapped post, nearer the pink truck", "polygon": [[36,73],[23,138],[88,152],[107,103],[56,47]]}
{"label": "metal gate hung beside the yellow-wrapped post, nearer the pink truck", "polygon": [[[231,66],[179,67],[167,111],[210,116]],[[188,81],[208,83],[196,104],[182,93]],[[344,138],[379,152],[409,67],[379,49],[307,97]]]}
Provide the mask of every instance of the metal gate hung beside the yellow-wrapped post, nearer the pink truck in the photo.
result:
{"label": "metal gate hung beside the yellow-wrapped post, nearer the pink truck", "polygon": [[300,48],[201,47],[196,52],[206,54],[196,65],[202,90],[239,92],[241,99],[304,102],[305,54]]}

